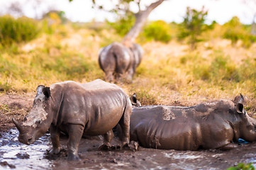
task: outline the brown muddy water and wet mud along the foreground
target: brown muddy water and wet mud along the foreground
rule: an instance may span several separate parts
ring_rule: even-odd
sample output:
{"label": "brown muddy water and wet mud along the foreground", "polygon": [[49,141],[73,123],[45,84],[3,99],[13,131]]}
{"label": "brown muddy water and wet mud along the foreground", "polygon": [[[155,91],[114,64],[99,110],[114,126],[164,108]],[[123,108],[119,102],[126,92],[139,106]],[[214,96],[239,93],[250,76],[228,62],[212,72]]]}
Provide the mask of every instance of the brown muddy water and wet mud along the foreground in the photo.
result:
{"label": "brown muddy water and wet mud along the foreground", "polygon": [[[33,145],[18,142],[16,129],[0,137],[0,169],[227,169],[239,162],[252,162],[256,166],[256,143],[243,143],[237,149],[174,151],[146,149],[137,152],[97,151],[98,138],[82,139],[79,145],[80,161],[68,162],[67,138],[62,137],[61,154],[50,157],[50,135],[46,134]],[[114,141],[115,142],[115,141]]]}

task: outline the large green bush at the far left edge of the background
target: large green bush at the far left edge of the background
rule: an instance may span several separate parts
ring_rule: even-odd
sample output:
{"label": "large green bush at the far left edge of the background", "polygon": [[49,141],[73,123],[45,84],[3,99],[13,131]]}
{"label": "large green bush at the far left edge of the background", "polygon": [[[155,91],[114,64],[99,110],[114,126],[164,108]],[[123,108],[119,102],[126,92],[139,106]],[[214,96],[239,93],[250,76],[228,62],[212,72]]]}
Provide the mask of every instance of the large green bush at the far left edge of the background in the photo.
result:
{"label": "large green bush at the far left edge of the background", "polygon": [[39,32],[38,23],[33,19],[0,17],[0,43],[3,46],[33,40]]}

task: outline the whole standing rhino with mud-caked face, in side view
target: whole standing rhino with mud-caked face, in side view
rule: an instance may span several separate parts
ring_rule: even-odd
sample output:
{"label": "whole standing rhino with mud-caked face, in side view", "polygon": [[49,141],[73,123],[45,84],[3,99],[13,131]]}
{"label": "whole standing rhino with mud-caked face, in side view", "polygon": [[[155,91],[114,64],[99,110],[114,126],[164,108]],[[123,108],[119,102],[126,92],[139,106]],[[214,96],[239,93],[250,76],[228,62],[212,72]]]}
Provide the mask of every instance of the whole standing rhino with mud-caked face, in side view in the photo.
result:
{"label": "whole standing rhino with mud-caked face, in side view", "polygon": [[65,81],[49,87],[38,86],[33,108],[23,123],[13,119],[20,134],[18,140],[26,145],[35,142],[50,128],[52,149],[50,154],[60,152],[60,132],[69,135],[68,159],[79,159],[77,149],[81,137],[103,135],[104,144],[110,147],[112,128],[121,125],[121,147],[130,141],[129,97],[115,84],[97,79],[87,84]]}

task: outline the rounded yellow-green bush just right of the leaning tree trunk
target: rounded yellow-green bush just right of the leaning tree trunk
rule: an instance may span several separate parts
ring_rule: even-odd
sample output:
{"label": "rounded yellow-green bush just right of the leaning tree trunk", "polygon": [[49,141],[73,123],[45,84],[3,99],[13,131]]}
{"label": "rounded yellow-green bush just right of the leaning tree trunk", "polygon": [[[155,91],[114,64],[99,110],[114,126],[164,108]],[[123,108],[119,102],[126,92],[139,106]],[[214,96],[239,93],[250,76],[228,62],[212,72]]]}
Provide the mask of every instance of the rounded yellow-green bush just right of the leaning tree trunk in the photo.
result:
{"label": "rounded yellow-green bush just right of the leaning tree trunk", "polygon": [[147,40],[169,42],[171,40],[169,31],[170,27],[165,21],[152,21],[144,28],[143,35]]}

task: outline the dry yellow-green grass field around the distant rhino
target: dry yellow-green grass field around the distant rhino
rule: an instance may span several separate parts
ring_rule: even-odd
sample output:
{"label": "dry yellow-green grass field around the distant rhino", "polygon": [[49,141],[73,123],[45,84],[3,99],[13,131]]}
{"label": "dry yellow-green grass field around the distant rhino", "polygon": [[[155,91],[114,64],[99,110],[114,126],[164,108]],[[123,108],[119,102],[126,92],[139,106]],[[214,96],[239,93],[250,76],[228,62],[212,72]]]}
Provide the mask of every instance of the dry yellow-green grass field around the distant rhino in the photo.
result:
{"label": "dry yellow-green grass field around the distant rhino", "polygon": [[[121,41],[121,37],[111,28],[76,27],[72,23],[55,28],[51,34],[41,33],[30,42],[6,47],[0,53],[0,91],[24,94],[40,84],[103,79],[98,52],[113,41]],[[209,33],[193,52],[175,39],[145,42],[143,50],[133,84],[118,84],[128,95],[136,93],[143,105],[191,106],[233,99],[241,93],[249,98],[247,109],[256,111],[255,44],[233,46]]]}

